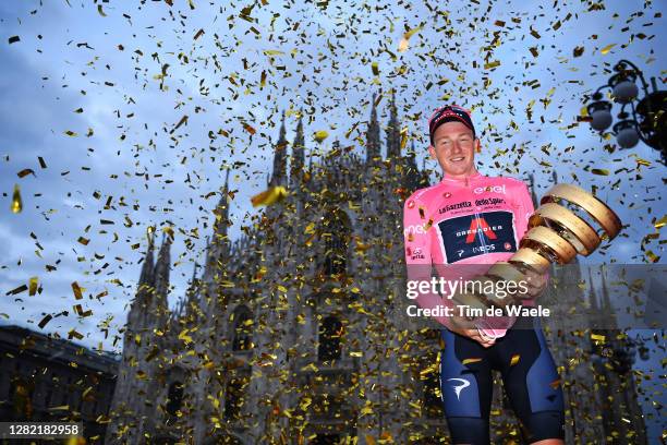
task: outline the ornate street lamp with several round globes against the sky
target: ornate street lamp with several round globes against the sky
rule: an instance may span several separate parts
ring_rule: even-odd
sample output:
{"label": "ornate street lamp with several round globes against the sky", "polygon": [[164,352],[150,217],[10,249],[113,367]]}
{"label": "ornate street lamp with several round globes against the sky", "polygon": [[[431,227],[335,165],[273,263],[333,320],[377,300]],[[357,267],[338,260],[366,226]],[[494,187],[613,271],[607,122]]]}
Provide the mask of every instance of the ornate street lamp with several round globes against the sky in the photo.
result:
{"label": "ornate street lamp with several round globes against the sky", "polygon": [[[614,101],[621,105],[619,121],[611,128],[618,145],[632,148],[641,140],[660,152],[662,161],[667,165],[667,91],[658,91],[655,77],[651,77],[653,92],[650,92],[642,71],[628,60],[619,61],[614,71],[616,74],[609,77],[606,85],[597,88],[592,96],[593,101],[586,107],[591,128],[602,133],[611,125],[611,103],[604,100],[602,94],[604,88],[610,88]],[[641,99],[638,98],[638,79],[644,93]],[[626,112],[626,107],[630,108],[631,115]]]}

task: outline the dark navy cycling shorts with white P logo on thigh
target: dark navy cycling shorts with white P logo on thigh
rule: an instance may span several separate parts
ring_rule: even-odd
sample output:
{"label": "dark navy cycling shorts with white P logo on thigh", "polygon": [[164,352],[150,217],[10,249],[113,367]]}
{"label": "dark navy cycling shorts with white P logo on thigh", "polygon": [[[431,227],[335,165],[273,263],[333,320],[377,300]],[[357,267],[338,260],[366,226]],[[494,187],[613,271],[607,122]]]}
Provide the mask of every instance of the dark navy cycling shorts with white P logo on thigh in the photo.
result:
{"label": "dark navy cycling shorts with white P logo on thigh", "polygon": [[538,317],[520,317],[489,348],[442,329],[440,390],[453,444],[489,444],[492,370],[500,371],[527,443],[565,440],[560,378]]}

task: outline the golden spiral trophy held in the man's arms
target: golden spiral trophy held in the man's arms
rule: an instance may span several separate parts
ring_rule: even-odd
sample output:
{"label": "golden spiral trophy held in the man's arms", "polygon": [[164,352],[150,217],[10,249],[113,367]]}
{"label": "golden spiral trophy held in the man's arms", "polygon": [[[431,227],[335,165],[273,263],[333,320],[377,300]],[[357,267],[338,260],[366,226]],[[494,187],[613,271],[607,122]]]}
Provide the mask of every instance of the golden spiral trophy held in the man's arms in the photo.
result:
{"label": "golden spiral trophy held in the man's arms", "polygon": [[[569,203],[569,208],[566,206]],[[484,276],[476,278],[478,289],[489,281],[519,282],[525,280],[524,270],[544,274],[554,262],[569,263],[578,253],[590,255],[603,239],[614,239],[621,229],[618,216],[605,203],[586,191],[571,184],[553,187],[541,200],[539,207],[529,219],[529,230],[519,242],[519,250],[507,261],[494,264]],[[582,212],[583,211],[583,212]],[[598,233],[580,215],[585,214],[602,227]],[[509,298],[508,298],[509,297]],[[473,308],[505,308],[514,302],[514,296],[499,298],[493,292],[457,294],[459,304]],[[487,338],[505,335],[506,329],[477,326]]]}

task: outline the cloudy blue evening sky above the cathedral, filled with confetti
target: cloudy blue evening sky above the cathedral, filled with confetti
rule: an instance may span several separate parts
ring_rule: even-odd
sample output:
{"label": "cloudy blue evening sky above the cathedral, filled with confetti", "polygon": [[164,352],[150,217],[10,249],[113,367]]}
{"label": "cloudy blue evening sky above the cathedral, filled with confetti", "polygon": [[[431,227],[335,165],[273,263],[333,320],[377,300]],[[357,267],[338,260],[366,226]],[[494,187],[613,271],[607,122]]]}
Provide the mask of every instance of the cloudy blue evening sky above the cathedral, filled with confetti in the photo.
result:
{"label": "cloudy blue evening sky above the cathedral, filled with confetti", "polygon": [[[193,0],[194,9],[181,0],[172,7],[98,2],[99,9],[75,0],[43,3],[0,3],[2,323],[37,328],[45,314],[68,310],[44,332],[66,336],[76,328],[86,346],[101,341],[113,349],[99,324],[110,323],[113,333],[125,322],[148,225],[177,230],[173,304],[201,261],[219,199],[211,193],[230,168],[238,190],[231,238],[252,224],[257,211],[250,196],[265,189],[282,110],[291,141],[295,111],[303,109],[307,149],[317,163],[336,139],[362,153],[355,137],[365,139],[371,96],[385,95],[378,107],[385,124],[392,88],[420,166],[427,117],[453,101],[472,108],[484,129],[482,172],[534,172],[541,192],[554,170],[561,181],[596,187],[628,227],[587,262],[646,261],[642,239],[665,215],[657,152],[640,144],[609,153],[604,146],[613,139],[587,124],[571,127],[584,95],[606,82],[621,58],[664,88],[665,21],[656,16],[665,14],[664,2],[607,1],[604,10],[590,10],[592,1],[480,0],[458,2],[458,10],[378,1],[221,7]],[[403,34],[419,26],[400,52]],[[12,36],[20,41],[9,44]],[[580,57],[577,47],[584,48]],[[175,128],[184,116],[186,123]],[[244,124],[256,130],[252,137]],[[312,137],[319,130],[329,133],[320,144]],[[639,165],[638,157],[651,165]],[[19,178],[26,168],[35,175]],[[611,175],[593,175],[593,168]],[[14,184],[24,201],[20,214],[9,212]],[[658,240],[648,248],[664,257]],[[35,276],[41,294],[4,296]],[[92,316],[74,315],[73,281],[85,288],[83,306]],[[88,297],[105,290],[107,297]]]}

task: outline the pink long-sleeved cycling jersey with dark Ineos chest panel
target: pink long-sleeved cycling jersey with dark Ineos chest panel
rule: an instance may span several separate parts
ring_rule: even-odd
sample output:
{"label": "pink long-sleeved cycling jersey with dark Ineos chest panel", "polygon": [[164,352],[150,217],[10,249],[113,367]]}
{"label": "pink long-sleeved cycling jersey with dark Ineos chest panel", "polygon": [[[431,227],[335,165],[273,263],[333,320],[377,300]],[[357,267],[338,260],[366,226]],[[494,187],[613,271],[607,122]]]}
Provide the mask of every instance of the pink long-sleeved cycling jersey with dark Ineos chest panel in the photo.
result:
{"label": "pink long-sleeved cycling jersey with dark Ineos chest panel", "polygon": [[[447,279],[454,279],[452,274],[465,280],[485,273],[519,249],[533,212],[527,187],[513,178],[475,172],[464,179],[445,177],[417,190],[403,208],[408,280],[430,280],[430,265]],[[434,292],[419,293],[416,302],[424,309],[453,305]],[[534,301],[524,300],[523,304],[534,305]],[[449,317],[435,320],[450,327]],[[512,323],[513,318],[507,317],[505,326]],[[494,336],[505,334],[505,329],[496,330]]]}

